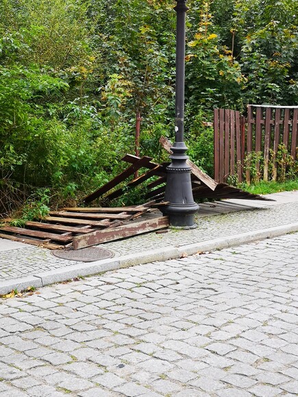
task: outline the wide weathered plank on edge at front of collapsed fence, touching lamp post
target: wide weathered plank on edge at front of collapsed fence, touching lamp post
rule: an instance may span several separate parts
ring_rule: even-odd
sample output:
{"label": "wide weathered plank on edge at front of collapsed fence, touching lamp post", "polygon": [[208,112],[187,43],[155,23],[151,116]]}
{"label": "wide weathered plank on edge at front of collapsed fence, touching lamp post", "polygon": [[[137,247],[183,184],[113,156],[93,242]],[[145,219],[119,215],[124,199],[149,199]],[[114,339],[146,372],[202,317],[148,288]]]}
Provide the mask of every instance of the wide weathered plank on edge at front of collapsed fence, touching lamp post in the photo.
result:
{"label": "wide weathered plank on edge at front of collapsed fence, touching lamp post", "polygon": [[78,235],[73,238],[73,248],[75,250],[102,244],[103,242],[119,240],[121,238],[131,237],[132,235],[139,235],[147,233],[148,231],[163,229],[169,227],[169,217],[162,216],[160,218],[143,220],[142,222],[135,222],[129,225],[123,225],[114,229],[105,229],[102,231],[94,231],[86,235]]}

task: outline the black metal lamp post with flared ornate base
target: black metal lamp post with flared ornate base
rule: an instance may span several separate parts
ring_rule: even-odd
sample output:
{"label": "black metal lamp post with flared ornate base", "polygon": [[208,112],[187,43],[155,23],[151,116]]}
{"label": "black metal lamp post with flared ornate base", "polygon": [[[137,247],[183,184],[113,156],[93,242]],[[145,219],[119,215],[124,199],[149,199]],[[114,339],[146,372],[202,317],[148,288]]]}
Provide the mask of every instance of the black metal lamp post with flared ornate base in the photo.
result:
{"label": "black metal lamp post with flared ornate base", "polygon": [[185,75],[185,21],[186,0],[176,0],[176,99],[175,99],[175,143],[171,148],[172,162],[166,168],[166,192],[164,201],[169,205],[164,213],[169,215],[172,226],[195,227],[194,215],[199,205],[193,199],[190,167],[186,163],[187,147],[184,144],[184,75]]}

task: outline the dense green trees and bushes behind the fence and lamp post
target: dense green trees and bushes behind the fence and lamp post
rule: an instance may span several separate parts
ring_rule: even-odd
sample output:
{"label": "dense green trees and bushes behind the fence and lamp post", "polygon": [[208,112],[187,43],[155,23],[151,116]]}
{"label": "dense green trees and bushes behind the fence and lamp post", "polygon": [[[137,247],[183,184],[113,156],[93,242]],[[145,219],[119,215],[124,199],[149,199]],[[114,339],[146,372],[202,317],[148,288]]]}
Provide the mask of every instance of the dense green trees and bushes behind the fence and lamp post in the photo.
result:
{"label": "dense green trees and bushes behind the fence and lamp post", "polygon": [[[187,3],[186,143],[193,161],[212,175],[212,129],[203,122],[212,120],[214,106],[298,103],[297,5]],[[158,141],[175,135],[174,6],[173,0],[0,2],[1,212],[36,188],[51,189],[51,202],[63,203],[108,181],[124,166],[119,158],[134,151],[136,111],[140,154],[168,159]],[[285,153],[276,161],[285,178],[296,172]]]}

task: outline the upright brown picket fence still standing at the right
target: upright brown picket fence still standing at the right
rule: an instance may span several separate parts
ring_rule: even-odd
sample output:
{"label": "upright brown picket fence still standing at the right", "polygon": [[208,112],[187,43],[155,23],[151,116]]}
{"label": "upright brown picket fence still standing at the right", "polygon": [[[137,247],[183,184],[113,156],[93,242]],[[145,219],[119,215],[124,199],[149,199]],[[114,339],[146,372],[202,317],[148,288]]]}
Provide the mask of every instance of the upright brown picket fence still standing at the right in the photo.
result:
{"label": "upright brown picket fence still standing at the right", "polygon": [[[250,183],[254,162],[255,179],[276,180],[287,155],[297,160],[297,124],[298,106],[248,105],[247,118],[236,110],[214,109],[214,179],[222,183],[236,176]],[[278,161],[279,153],[284,161]]]}

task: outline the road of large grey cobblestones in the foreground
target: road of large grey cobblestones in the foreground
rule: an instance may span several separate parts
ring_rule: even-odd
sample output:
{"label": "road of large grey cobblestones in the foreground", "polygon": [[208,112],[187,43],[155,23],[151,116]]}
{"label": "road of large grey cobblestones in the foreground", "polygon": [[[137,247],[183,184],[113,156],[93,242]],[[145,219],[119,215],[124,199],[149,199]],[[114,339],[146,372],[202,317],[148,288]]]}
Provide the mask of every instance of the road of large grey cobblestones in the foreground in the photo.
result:
{"label": "road of large grey cobblestones in the foreground", "polygon": [[0,304],[0,396],[298,395],[298,233]]}

